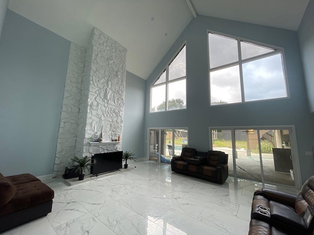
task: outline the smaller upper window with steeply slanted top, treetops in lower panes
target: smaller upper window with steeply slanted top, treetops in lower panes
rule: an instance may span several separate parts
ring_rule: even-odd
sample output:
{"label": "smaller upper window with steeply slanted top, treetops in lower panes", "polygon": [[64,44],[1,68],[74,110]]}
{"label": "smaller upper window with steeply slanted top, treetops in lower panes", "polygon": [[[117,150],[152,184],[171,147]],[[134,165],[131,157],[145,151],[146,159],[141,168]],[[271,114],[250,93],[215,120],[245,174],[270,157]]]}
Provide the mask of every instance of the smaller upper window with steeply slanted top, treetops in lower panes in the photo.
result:
{"label": "smaller upper window with steeply slanted top, treetops in lower panes", "polygon": [[186,108],[185,45],[151,87],[151,112]]}

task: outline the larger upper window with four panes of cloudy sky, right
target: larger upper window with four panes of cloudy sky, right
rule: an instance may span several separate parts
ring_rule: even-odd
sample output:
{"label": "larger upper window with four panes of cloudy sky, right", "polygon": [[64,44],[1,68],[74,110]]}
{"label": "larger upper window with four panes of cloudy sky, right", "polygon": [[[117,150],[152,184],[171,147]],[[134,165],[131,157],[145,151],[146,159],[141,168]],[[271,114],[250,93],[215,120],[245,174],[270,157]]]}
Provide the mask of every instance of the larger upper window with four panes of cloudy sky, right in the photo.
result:
{"label": "larger upper window with four panes of cloudy sky, right", "polygon": [[283,49],[209,32],[210,105],[288,97]]}

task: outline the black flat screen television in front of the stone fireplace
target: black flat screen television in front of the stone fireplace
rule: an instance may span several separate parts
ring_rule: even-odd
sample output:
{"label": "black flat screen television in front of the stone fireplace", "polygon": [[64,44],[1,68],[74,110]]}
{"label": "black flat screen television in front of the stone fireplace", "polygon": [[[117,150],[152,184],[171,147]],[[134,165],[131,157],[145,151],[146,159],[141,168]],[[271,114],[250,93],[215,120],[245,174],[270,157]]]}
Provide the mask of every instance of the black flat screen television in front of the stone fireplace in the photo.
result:
{"label": "black flat screen television in front of the stone fireplace", "polygon": [[122,168],[122,151],[97,153],[92,156],[90,173],[99,175]]}

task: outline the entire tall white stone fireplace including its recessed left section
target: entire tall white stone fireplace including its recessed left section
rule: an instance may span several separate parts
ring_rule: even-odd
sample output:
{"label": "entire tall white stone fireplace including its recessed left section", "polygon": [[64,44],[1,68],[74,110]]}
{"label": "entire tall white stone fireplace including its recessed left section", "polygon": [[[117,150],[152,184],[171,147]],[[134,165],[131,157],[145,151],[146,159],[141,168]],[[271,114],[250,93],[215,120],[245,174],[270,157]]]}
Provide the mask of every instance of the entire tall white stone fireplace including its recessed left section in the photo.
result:
{"label": "entire tall white stone fireplace including its recessed left section", "polygon": [[101,133],[122,140],[127,49],[94,28],[87,48],[71,43],[53,177],[74,156],[121,151],[121,143],[90,144]]}

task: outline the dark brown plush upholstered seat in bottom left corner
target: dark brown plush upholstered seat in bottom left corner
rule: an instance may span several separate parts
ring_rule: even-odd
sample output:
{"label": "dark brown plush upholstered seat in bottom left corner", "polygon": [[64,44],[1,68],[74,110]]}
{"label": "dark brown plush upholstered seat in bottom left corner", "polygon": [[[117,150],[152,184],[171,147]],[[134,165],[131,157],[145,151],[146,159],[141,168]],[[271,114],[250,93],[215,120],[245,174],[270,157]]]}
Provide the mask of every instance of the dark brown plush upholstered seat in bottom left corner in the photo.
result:
{"label": "dark brown plush upholstered seat in bottom left corner", "polygon": [[0,233],[47,215],[54,192],[31,174],[0,173]]}

